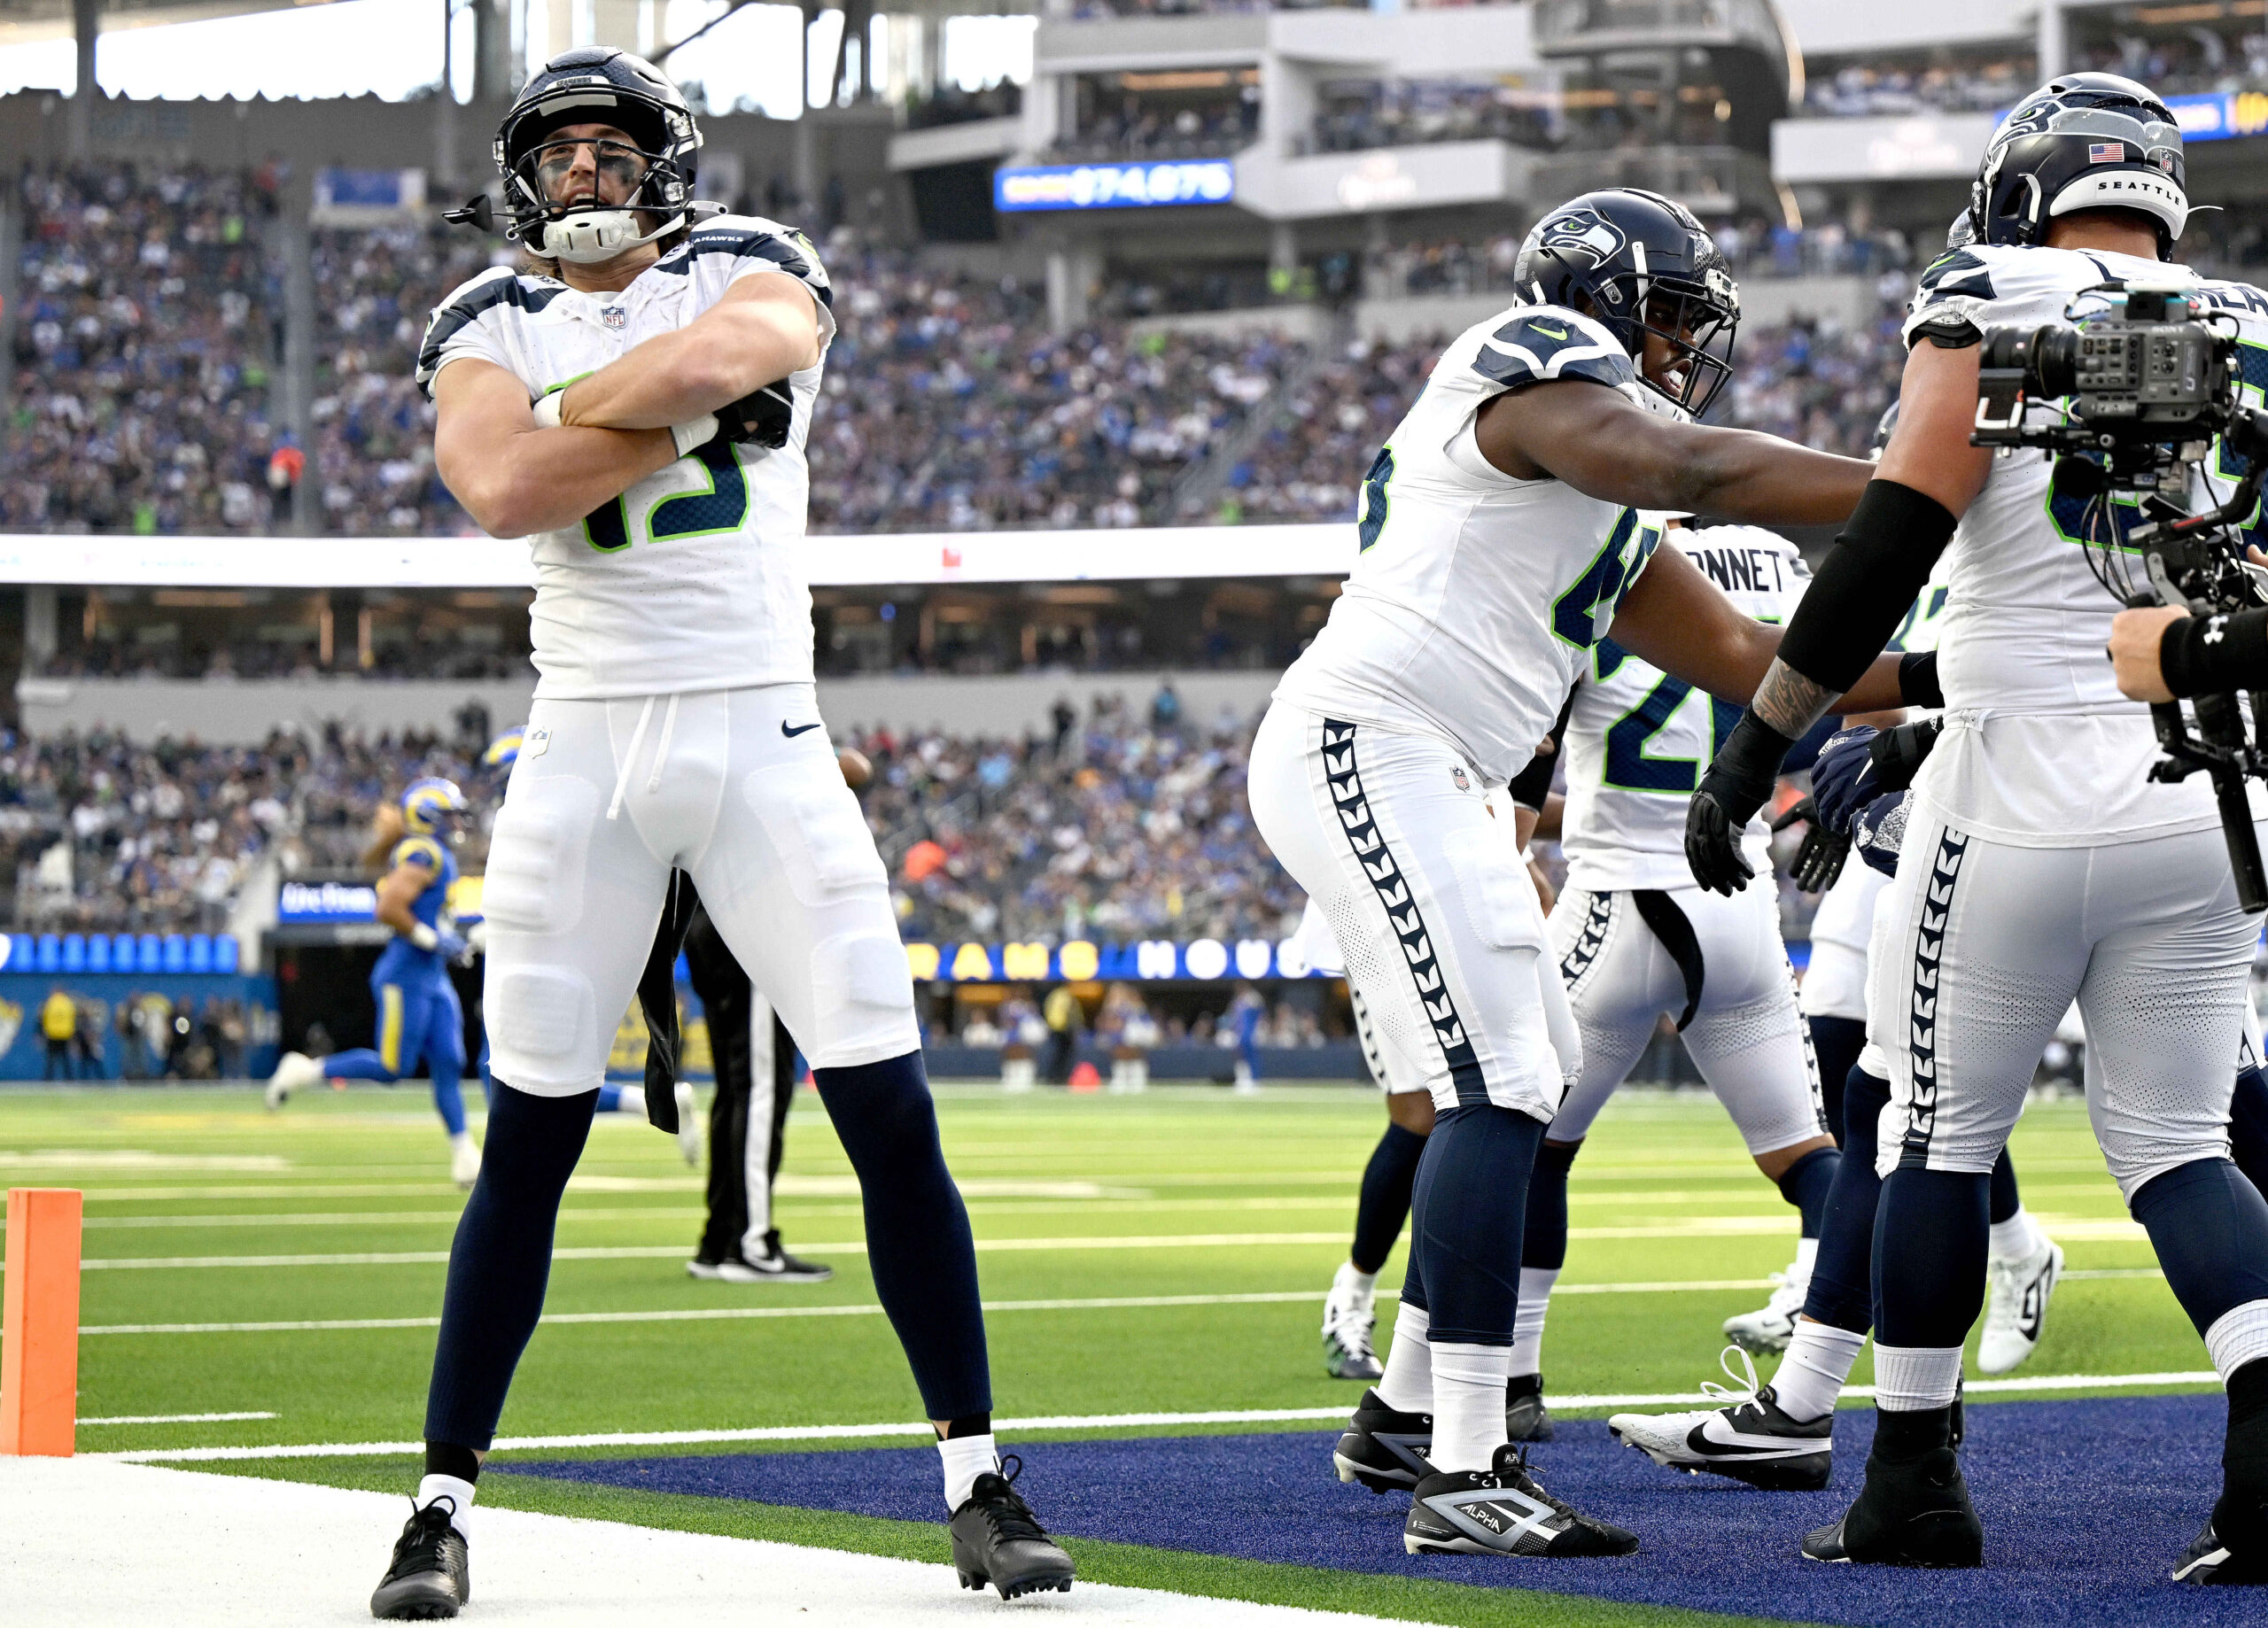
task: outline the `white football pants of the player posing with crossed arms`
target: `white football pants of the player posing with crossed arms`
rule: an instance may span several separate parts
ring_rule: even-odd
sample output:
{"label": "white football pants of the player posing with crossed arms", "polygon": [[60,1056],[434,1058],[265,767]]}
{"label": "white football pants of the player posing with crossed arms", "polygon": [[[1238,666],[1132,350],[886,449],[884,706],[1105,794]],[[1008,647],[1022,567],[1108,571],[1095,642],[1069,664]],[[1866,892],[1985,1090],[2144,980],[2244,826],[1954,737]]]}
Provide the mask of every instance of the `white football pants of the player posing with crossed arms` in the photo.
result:
{"label": "white football pants of the player posing with crossed arms", "polygon": [[[540,1097],[603,1082],[671,866],[692,875],[717,932],[814,1068],[916,1050],[889,877],[828,732],[803,728],[819,723],[814,687],[669,703],[669,728],[655,728],[660,707],[635,696],[528,710],[531,732],[549,730],[549,746],[513,764],[483,891],[497,1079]],[[617,787],[621,807],[606,819]],[[753,1113],[748,1141],[753,1156]],[[751,1199],[758,1190],[751,1181]]]}

